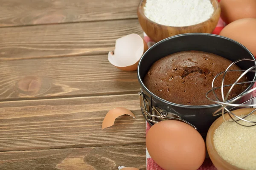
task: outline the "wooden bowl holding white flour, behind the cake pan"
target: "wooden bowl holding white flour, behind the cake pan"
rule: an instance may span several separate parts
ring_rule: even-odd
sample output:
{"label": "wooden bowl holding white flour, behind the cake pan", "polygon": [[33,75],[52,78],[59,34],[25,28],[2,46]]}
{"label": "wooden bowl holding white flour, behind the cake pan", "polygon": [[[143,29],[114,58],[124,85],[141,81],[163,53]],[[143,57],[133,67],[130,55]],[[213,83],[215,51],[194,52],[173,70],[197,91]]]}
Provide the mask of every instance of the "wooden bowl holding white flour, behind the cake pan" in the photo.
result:
{"label": "wooden bowl holding white flour, behind the cake pan", "polygon": [[159,42],[168,37],[184,34],[184,33],[212,33],[218,24],[218,20],[221,15],[221,7],[218,0],[211,0],[212,6],[214,7],[214,12],[209,20],[203,23],[195,24],[192,26],[174,27],[174,26],[164,26],[149,20],[144,14],[144,6],[146,0],[141,0],[137,14],[140,22],[140,26],[143,31],[148,35],[148,37],[154,42]]}

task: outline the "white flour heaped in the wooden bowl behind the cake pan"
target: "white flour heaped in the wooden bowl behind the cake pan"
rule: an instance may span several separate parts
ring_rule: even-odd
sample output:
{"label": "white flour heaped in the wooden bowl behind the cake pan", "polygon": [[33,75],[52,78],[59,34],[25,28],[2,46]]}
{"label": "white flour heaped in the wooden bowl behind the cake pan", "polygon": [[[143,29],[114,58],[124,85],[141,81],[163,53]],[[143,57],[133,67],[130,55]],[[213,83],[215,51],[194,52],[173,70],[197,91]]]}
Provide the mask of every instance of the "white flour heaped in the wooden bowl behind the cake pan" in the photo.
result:
{"label": "white flour heaped in the wooden bowl behind the cake pan", "polygon": [[147,0],[145,16],[165,26],[191,26],[208,20],[214,8],[210,0]]}

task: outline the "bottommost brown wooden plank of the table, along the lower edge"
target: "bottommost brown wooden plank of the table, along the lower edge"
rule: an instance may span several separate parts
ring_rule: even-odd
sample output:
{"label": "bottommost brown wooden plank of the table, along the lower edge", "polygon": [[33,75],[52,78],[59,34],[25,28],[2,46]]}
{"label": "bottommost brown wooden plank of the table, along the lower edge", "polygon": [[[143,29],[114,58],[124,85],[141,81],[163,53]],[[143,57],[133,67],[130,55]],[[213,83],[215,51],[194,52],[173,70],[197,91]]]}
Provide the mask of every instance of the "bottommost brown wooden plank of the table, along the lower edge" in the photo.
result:
{"label": "bottommost brown wooden plank of the table, along the lower edge", "polygon": [[0,152],[1,170],[146,170],[145,145]]}

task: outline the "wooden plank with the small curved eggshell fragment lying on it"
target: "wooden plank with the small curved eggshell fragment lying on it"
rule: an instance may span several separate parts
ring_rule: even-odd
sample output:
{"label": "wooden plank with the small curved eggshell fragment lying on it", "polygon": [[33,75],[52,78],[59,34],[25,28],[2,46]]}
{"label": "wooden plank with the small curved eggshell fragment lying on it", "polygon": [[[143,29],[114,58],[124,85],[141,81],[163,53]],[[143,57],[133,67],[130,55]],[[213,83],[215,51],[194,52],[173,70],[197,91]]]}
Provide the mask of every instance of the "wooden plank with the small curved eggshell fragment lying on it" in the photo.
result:
{"label": "wooden plank with the small curved eggshell fragment lying on it", "polygon": [[[125,107],[102,130],[106,113]],[[0,151],[145,144],[138,94],[0,102]]]}

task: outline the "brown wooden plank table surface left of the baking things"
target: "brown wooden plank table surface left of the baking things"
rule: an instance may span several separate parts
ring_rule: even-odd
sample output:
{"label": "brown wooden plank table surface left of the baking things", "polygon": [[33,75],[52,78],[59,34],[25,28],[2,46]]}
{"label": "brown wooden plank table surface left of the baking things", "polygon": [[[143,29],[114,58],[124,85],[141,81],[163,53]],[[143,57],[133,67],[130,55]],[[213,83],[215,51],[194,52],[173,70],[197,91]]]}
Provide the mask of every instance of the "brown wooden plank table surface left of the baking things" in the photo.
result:
{"label": "brown wooden plank table surface left of the baking things", "polygon": [[[145,170],[137,73],[108,62],[143,36],[139,0],[0,1],[0,170]],[[105,114],[125,107],[102,130]]]}

